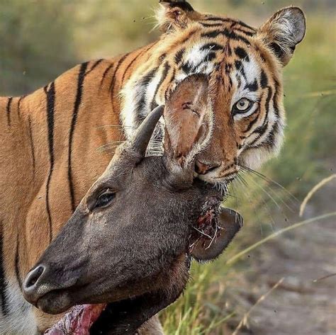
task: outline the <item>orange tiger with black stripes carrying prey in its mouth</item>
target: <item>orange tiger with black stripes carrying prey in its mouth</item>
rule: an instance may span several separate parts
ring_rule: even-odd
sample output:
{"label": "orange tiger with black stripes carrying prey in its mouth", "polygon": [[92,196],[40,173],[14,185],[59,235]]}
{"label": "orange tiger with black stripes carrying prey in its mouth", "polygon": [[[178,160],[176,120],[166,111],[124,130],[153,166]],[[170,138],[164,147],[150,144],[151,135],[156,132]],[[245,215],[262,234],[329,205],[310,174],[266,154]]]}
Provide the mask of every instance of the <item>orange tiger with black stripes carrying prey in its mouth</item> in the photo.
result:
{"label": "orange tiger with black stripes carrying prey in its mouth", "polygon": [[[161,5],[156,42],[0,98],[1,334],[40,334],[60,318],[23,299],[23,277],[111,160],[99,147],[131,137],[186,76],[206,74],[211,85],[213,134],[199,178],[225,187],[240,166],[255,169],[279,152],[281,74],[305,35],[301,9],[283,8],[256,29],[185,1]],[[159,128],[153,143],[162,136]]]}

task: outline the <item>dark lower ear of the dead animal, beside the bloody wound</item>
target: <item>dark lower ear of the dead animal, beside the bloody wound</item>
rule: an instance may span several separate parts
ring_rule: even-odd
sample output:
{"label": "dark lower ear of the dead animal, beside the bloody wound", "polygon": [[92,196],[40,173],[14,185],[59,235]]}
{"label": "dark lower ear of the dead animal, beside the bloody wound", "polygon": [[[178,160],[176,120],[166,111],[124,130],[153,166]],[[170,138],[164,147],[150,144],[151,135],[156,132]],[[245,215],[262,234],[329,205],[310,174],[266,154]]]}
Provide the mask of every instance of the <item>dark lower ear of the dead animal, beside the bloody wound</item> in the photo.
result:
{"label": "dark lower ear of the dead animal, beside the bloody wound", "polygon": [[[242,217],[234,210],[220,208],[217,227],[208,227],[211,229],[209,234],[198,234],[198,238],[191,249],[191,256],[196,261],[213,261],[230,244],[242,227]],[[213,236],[212,236],[213,235]]]}

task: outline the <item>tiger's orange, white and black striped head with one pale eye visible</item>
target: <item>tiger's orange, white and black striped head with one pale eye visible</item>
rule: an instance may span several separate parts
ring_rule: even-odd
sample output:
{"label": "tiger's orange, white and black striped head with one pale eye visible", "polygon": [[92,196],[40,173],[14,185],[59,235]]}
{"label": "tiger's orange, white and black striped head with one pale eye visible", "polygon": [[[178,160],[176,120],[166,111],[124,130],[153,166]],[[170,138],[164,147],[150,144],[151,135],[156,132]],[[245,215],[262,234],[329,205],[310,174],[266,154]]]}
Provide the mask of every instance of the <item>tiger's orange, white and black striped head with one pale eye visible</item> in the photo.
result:
{"label": "tiger's orange, white and black striped head with one pale eye visible", "polygon": [[199,178],[227,183],[277,154],[286,122],[281,74],[306,33],[301,9],[283,8],[257,29],[185,1],[162,1],[157,17],[163,34],[123,89],[126,133],[179,82],[206,74],[212,136],[196,161]]}

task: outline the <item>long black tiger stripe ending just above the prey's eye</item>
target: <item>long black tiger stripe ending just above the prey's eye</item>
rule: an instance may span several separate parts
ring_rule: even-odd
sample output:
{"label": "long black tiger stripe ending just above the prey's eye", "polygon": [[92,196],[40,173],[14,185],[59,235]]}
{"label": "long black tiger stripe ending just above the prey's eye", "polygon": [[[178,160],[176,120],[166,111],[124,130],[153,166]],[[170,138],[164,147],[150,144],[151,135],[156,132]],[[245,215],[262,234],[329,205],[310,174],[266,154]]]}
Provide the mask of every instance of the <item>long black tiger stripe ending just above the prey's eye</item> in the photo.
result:
{"label": "long black tiger stripe ending just above the prey's eye", "polygon": [[[69,152],[68,152],[68,171],[67,171],[67,177],[69,181],[69,190],[70,190],[70,196],[71,196],[71,205],[72,205],[72,211],[75,210],[76,206],[74,203],[74,182],[72,181],[72,144],[74,140],[74,127],[76,127],[77,123],[77,115],[79,111],[79,106],[82,102],[82,94],[83,94],[83,84],[84,84],[84,78],[85,78],[85,72],[87,67],[87,62],[83,63],[79,69],[78,74],[78,80],[77,80],[77,94],[76,94],[76,100],[74,101],[74,110],[72,112],[72,121],[71,121],[71,127],[69,132]],[[113,66],[113,64],[111,64]],[[107,70],[107,69],[106,69]],[[106,71],[107,73],[108,71]]]}

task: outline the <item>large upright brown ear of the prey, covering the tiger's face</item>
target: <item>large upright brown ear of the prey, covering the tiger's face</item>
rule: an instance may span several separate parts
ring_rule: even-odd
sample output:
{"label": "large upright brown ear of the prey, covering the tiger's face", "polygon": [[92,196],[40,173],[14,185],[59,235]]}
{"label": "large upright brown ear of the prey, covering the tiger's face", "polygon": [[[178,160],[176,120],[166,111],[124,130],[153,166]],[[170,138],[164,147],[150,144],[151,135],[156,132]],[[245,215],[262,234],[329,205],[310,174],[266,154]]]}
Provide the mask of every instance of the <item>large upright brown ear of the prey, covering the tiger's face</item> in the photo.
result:
{"label": "large upright brown ear of the prey, covering the tiger's face", "polygon": [[164,108],[164,152],[179,166],[189,166],[211,137],[208,76],[193,74],[177,86]]}

